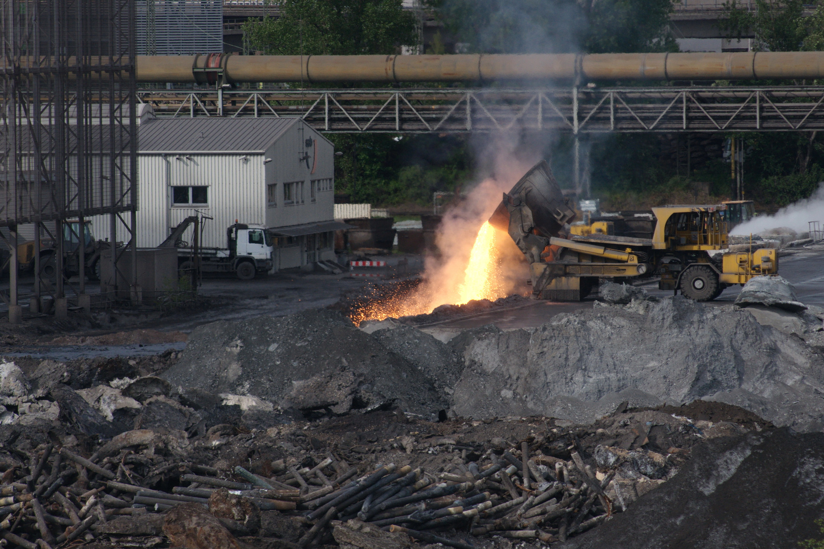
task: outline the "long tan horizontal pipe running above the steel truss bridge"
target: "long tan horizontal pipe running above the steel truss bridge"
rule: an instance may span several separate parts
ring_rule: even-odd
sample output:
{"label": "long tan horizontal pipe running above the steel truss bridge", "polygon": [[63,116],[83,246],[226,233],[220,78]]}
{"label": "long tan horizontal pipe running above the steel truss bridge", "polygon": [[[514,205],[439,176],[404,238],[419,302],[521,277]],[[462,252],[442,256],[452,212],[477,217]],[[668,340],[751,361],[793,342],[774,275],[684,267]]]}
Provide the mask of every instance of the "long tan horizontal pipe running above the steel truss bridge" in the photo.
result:
{"label": "long tan horizontal pipe running above the steel truss bridge", "polygon": [[138,56],[137,78],[211,83],[218,67],[230,83],[814,79],[824,78],[824,52],[154,55]]}

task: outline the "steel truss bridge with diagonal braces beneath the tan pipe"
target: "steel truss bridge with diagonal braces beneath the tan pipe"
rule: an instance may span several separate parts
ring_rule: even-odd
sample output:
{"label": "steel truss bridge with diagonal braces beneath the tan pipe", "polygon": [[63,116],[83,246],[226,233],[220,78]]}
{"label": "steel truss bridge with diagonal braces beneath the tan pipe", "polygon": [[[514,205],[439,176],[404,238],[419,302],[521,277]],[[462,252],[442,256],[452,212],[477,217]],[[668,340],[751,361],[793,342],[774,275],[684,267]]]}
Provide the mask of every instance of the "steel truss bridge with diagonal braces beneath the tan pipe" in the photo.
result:
{"label": "steel truss bridge with diagonal braces beneath the tan pipe", "polygon": [[795,132],[824,129],[822,87],[141,91],[160,117],[299,116],[324,132]]}

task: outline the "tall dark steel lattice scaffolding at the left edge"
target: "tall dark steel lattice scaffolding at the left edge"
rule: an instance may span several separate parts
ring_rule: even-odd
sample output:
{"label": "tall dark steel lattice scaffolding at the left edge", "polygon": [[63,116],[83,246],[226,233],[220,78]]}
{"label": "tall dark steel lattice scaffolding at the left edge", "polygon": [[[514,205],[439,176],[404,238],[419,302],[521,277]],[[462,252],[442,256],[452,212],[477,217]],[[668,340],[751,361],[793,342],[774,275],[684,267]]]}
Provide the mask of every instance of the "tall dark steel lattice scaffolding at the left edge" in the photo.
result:
{"label": "tall dark steel lattice scaffolding at the left edge", "polygon": [[[134,21],[134,0],[0,0],[0,227],[7,228],[0,239],[11,252],[10,287],[0,298],[12,323],[22,318],[21,226],[34,226],[31,312],[44,295],[58,315],[68,299],[89,308],[81,243],[92,215],[110,216],[111,276],[101,294],[114,299],[120,281],[138,295]],[[124,244],[118,226],[129,235]],[[52,244],[44,246],[46,239]],[[73,242],[76,249],[64,249]],[[124,273],[118,259],[127,251],[134,255]],[[79,265],[76,283],[65,272],[68,254]]]}

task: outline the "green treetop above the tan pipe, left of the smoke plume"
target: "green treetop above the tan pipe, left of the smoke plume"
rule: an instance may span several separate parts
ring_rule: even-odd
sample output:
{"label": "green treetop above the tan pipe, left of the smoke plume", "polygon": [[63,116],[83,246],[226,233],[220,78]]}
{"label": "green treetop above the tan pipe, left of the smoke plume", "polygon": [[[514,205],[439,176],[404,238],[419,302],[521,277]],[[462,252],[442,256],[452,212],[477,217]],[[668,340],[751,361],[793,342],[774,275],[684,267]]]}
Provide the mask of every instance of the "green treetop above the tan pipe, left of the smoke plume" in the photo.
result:
{"label": "green treetop above the tan pipe, left of the smoke plume", "polygon": [[396,54],[417,44],[402,0],[283,0],[278,17],[249,21],[252,49],[269,55]]}

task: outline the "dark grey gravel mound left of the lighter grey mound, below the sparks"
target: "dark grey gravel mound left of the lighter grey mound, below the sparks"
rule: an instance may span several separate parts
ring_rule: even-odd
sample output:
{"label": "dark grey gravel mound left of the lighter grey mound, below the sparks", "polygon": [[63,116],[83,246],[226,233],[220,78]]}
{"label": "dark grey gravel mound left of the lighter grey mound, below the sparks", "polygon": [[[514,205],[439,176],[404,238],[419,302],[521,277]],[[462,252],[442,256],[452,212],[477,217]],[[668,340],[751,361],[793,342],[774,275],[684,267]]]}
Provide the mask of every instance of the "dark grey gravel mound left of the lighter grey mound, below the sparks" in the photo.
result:
{"label": "dark grey gravel mound left of the lighter grey mound, below the sparks", "polygon": [[419,368],[329,309],[197,328],[162,377],[183,389],[251,395],[282,410],[397,406],[428,417],[446,407]]}

